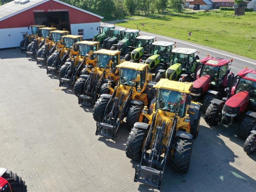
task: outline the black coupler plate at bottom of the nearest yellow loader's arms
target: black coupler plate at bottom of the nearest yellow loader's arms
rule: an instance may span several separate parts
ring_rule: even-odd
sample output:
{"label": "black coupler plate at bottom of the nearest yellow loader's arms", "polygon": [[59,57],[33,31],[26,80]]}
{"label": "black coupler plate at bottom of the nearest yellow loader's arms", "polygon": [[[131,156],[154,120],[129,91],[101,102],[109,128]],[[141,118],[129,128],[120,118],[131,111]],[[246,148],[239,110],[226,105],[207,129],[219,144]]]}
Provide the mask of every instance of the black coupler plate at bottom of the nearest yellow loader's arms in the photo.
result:
{"label": "black coupler plate at bottom of the nearest yellow loader's arms", "polygon": [[151,167],[136,164],[134,182],[150,185],[154,188],[161,188],[163,172]]}

